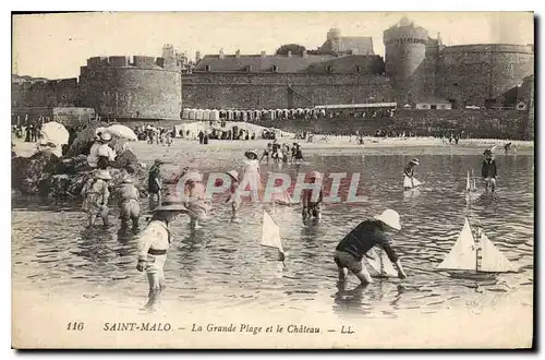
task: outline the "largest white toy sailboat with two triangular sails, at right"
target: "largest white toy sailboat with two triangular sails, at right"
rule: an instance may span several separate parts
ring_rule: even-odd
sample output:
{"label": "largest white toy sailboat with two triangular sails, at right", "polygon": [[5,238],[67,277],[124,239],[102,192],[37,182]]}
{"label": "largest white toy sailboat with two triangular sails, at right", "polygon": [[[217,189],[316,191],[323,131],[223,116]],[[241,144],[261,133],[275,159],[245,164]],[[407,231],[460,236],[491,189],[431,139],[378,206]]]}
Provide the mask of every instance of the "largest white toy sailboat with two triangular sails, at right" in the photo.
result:
{"label": "largest white toy sailboat with two triangular sails, at right", "polygon": [[452,277],[489,279],[497,273],[517,272],[517,267],[494,245],[482,230],[477,230],[477,241],[473,238],[470,223],[465,218],[458,240],[437,266],[448,271]]}

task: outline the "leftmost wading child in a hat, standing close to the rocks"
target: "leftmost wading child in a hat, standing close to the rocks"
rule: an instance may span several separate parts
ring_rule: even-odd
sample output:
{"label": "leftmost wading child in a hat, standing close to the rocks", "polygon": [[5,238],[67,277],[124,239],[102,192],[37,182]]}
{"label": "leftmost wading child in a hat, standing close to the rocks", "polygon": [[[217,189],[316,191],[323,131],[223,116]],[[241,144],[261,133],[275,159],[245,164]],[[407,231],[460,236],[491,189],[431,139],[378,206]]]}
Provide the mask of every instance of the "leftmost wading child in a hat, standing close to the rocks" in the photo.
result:
{"label": "leftmost wading child in a hat, standing close to the rocks", "polygon": [[100,215],[104,226],[108,226],[108,180],[111,180],[108,170],[96,170],[82,189],[84,197],[82,209],[87,213],[87,227],[95,225],[95,219]]}

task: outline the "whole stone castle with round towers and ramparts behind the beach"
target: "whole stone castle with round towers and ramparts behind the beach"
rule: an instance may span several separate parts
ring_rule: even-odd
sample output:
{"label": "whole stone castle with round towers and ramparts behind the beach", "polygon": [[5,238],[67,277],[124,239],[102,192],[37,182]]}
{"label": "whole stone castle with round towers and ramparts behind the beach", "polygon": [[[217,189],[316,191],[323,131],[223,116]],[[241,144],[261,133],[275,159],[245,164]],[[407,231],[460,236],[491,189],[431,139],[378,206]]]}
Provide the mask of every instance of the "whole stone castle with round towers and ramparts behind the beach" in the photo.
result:
{"label": "whole stone castle with round towers and ramparts behind the beach", "polygon": [[[78,106],[101,117],[180,119],[182,108],[277,109],[397,103],[421,109],[502,107],[533,79],[533,46],[445,46],[407,17],[384,32],[385,57],[371,37],[332,28],[318,51],[206,55],[193,65],[171,45],[162,57],[87,60],[78,79],[12,81],[14,112]],[[506,95],[507,94],[507,95]],[[522,94],[514,95],[516,100]],[[447,106],[448,105],[448,106]]]}

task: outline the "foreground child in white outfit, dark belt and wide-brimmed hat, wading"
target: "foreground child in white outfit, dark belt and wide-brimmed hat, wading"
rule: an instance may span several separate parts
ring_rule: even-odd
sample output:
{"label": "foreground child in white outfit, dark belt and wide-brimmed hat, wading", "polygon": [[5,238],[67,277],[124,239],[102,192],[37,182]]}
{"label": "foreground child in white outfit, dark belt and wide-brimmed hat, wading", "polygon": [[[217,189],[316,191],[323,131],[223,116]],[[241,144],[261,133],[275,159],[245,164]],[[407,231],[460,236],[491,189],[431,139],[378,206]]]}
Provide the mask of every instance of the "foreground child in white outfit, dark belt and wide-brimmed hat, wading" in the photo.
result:
{"label": "foreground child in white outfit, dark belt and wide-brimmed hat, wading", "polygon": [[172,243],[170,224],[178,215],[185,214],[187,209],[173,197],[167,196],[164,203],[156,207],[152,220],[137,236],[138,243],[138,272],[146,271],[149,284],[148,302],[146,308],[153,308],[159,302],[160,292],[165,289],[165,262],[167,251]]}

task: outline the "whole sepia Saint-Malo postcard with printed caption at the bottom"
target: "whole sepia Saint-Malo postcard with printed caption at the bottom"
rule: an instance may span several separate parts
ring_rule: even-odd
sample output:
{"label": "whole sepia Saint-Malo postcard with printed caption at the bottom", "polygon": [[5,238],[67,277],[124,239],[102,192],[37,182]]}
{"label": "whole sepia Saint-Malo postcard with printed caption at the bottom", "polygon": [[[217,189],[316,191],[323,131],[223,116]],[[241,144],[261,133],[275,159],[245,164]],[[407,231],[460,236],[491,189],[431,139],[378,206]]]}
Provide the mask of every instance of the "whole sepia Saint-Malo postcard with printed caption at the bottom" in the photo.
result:
{"label": "whole sepia Saint-Malo postcard with printed caption at the bottom", "polygon": [[12,347],[532,348],[534,23],[12,12]]}

